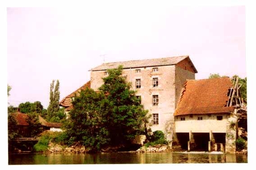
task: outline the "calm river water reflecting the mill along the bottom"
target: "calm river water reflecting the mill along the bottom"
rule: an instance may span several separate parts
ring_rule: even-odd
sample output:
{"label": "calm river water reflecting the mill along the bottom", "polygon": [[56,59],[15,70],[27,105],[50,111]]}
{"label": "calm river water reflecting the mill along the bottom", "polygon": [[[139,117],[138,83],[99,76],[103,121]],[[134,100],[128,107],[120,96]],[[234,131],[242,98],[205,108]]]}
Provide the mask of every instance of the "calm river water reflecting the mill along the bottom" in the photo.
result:
{"label": "calm river water reflecting the mill along the bottom", "polygon": [[247,155],[186,152],[10,154],[9,165],[247,163]]}

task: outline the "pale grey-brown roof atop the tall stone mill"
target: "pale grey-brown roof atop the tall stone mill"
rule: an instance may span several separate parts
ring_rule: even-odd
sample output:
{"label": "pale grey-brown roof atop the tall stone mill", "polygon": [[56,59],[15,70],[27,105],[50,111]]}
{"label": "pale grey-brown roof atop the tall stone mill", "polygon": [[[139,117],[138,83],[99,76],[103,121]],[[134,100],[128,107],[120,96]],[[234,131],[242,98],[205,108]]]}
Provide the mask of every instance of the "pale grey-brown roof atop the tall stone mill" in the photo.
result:
{"label": "pale grey-brown roof atop the tall stone mill", "polygon": [[166,58],[154,58],[146,60],[133,60],[124,62],[114,62],[114,63],[103,63],[100,66],[92,68],[90,71],[101,71],[112,68],[117,68],[119,65],[123,65],[123,68],[138,68],[138,67],[154,67],[154,66],[167,66],[174,65],[187,58],[186,56],[179,57],[166,57]]}

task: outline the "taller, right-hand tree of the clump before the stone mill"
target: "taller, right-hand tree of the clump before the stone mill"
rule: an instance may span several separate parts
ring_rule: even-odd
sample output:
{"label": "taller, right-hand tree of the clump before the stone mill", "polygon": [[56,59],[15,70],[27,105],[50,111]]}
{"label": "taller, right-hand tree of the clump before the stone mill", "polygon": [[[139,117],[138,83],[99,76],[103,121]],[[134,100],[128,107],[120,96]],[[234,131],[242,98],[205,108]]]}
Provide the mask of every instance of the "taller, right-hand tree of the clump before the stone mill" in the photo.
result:
{"label": "taller, right-hand tree of the clump before the stone mill", "polygon": [[108,122],[111,143],[126,143],[142,130],[147,111],[143,109],[131,83],[122,76],[123,67],[108,70],[99,88],[105,94],[105,119]]}

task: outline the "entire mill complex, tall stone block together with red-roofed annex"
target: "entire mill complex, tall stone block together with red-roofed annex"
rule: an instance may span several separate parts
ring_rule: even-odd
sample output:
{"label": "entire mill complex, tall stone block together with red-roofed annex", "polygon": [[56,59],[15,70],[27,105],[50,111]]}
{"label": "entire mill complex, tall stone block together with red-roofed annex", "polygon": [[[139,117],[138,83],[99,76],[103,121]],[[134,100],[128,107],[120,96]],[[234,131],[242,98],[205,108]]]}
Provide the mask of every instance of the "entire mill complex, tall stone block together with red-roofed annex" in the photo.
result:
{"label": "entire mill complex, tall stone block together with red-roofed annex", "polygon": [[[189,56],[103,63],[92,68],[91,80],[59,103],[65,112],[82,89],[95,91],[108,69],[123,66],[123,76],[149,111],[151,130],[161,130],[173,145],[187,150],[235,152],[239,98],[238,82],[228,77],[195,80],[197,69]],[[231,127],[233,126],[233,127]]]}

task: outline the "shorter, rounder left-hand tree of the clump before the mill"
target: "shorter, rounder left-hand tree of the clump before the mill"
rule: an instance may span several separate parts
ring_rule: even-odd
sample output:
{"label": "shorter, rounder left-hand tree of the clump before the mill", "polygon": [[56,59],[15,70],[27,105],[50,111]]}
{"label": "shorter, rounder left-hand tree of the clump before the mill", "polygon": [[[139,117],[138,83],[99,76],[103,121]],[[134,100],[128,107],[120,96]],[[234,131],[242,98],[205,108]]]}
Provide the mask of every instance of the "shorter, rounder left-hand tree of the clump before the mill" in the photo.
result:
{"label": "shorter, rounder left-hand tree of the clump before the mill", "polygon": [[88,88],[74,98],[74,108],[69,112],[70,121],[64,126],[70,139],[81,141],[87,148],[98,150],[108,142],[109,134],[104,127],[107,122],[101,116],[103,98],[103,94]]}

